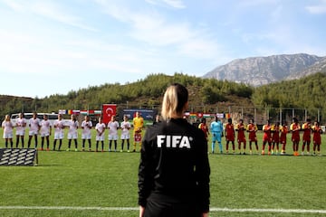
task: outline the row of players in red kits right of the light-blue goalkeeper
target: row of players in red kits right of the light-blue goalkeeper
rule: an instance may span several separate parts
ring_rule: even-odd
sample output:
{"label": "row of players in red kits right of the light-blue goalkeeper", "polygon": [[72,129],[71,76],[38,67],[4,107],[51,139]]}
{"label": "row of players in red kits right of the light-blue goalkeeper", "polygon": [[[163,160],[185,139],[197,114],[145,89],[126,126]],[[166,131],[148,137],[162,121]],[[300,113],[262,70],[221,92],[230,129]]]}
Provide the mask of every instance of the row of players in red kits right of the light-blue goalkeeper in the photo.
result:
{"label": "row of players in red kits right of the light-blue goalkeeper", "polygon": [[[239,123],[235,126],[232,123],[232,119],[228,118],[228,121],[225,125],[225,140],[226,140],[226,153],[228,153],[229,143],[232,144],[233,152],[235,153],[235,132],[237,132],[237,143],[239,154],[245,155],[246,148],[246,139],[245,132],[249,133],[249,151],[250,154],[253,153],[252,144],[254,143],[257,154],[258,142],[256,137],[256,132],[258,127],[254,124],[254,120],[250,120],[250,123],[245,126],[244,120],[240,119]],[[280,122],[276,122],[274,125],[271,124],[270,120],[267,120],[267,123],[263,126],[263,146],[262,146],[262,155],[265,155],[265,146],[268,146],[268,155],[285,155],[286,148],[286,136],[288,133],[292,134],[292,150],[293,156],[300,156],[299,154],[299,143],[300,143],[300,132],[302,134],[302,153],[304,155],[304,150],[306,147],[306,155],[311,155],[311,142],[313,142],[313,153],[312,155],[321,155],[321,134],[322,130],[318,121],[315,121],[313,126],[311,124],[311,119],[307,119],[306,122],[299,124],[297,118],[293,118],[293,122],[288,128],[287,123],[284,121],[282,125]],[[280,152],[280,145],[282,149]],[[243,147],[243,152],[241,151]]]}

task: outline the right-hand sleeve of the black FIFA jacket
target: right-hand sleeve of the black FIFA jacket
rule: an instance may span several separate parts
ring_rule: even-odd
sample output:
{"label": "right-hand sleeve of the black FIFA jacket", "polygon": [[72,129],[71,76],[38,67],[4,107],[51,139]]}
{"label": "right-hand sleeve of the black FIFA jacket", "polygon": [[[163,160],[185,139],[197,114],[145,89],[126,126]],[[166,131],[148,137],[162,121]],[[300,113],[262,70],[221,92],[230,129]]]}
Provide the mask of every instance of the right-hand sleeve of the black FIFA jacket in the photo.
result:
{"label": "right-hand sleeve of the black FIFA jacket", "polygon": [[197,176],[197,187],[198,187],[198,203],[201,212],[209,212],[209,175],[210,166],[207,155],[207,142],[204,134],[200,134],[197,144],[197,165],[196,165],[196,176]]}

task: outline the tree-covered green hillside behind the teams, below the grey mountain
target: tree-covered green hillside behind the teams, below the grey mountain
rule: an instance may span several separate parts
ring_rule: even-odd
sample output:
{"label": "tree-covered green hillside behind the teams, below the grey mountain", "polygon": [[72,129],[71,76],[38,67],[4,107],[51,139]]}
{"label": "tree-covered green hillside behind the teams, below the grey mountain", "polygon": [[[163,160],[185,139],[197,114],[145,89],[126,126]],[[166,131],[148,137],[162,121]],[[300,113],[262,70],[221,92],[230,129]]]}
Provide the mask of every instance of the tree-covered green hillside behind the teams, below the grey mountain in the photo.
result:
{"label": "tree-covered green hillside behind the teams, below the grey mountain", "polygon": [[[179,82],[189,90],[189,109],[216,112],[229,106],[243,108],[302,108],[308,111],[326,108],[326,75],[316,73],[300,80],[282,81],[261,87],[227,80],[202,79],[176,73],[174,76],[151,74],[144,80],[120,85],[103,84],[66,95],[55,94],[43,99],[0,95],[0,115],[16,112],[57,112],[58,109],[101,109],[103,103],[116,103],[120,109],[158,109],[169,84]],[[221,109],[218,109],[221,111]],[[324,116],[324,114],[321,114]]]}

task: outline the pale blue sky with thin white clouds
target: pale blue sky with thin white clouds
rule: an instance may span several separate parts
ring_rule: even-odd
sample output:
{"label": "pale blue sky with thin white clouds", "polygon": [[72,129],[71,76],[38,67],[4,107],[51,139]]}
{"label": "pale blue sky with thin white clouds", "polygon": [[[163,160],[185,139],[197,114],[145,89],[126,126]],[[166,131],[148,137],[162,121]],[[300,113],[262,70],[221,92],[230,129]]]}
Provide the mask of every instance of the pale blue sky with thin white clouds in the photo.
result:
{"label": "pale blue sky with thin white clouds", "polygon": [[228,61],[326,56],[326,0],[0,0],[0,94],[43,98]]}

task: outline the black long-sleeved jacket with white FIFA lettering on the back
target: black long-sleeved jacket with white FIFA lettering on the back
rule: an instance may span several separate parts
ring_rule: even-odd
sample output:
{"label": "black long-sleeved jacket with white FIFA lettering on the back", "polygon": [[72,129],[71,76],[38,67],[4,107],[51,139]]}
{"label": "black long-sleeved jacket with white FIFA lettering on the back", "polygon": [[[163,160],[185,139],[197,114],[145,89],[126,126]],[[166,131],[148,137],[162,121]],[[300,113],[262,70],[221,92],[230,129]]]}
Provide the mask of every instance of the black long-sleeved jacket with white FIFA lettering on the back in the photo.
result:
{"label": "black long-sleeved jacket with white FIFA lettering on the back", "polygon": [[139,163],[139,205],[147,200],[196,202],[209,211],[207,142],[204,132],[177,118],[147,129]]}

